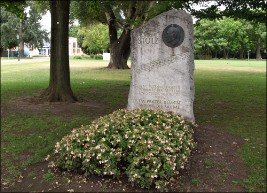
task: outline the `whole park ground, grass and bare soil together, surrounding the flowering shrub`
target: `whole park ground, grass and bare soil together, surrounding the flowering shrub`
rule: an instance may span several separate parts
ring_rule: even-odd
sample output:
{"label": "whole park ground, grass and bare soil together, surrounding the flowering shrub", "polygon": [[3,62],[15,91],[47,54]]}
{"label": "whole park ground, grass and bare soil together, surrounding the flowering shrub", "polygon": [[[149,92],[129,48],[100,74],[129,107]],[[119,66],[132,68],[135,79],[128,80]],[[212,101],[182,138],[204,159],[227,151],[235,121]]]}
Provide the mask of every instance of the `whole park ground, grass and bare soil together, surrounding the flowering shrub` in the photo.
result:
{"label": "whole park ground, grass and bare soil together, surrounding the flowering shrub", "polygon": [[[147,191],[132,187],[126,174],[113,179],[54,172],[45,161],[73,128],[126,107],[130,71],[105,65],[71,60],[79,102],[62,104],[33,97],[48,85],[48,61],[1,63],[2,192]],[[265,61],[196,61],[197,146],[166,191],[265,191],[265,71]]]}

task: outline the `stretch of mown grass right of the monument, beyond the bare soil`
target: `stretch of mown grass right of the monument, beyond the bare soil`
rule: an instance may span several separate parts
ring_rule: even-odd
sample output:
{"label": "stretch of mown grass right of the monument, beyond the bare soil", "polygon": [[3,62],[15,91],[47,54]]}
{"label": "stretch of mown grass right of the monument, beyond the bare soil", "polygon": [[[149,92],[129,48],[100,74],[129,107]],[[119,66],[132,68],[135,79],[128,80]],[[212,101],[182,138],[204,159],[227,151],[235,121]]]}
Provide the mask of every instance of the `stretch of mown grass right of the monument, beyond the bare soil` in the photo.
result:
{"label": "stretch of mown grass right of the monument, beyond the bare soil", "polygon": [[266,189],[265,68],[265,61],[196,61],[196,120],[247,141],[239,153],[249,170],[248,191]]}

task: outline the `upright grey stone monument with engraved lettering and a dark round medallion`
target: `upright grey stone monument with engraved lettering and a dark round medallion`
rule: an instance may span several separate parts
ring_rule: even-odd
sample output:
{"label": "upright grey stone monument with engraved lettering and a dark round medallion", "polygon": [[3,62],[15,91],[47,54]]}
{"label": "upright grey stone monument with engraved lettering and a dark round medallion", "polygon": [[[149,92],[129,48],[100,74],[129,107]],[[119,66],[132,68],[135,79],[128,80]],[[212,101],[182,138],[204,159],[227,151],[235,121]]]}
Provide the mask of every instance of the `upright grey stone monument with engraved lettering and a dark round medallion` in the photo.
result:
{"label": "upright grey stone monument with engraved lettering and a dark round medallion", "polygon": [[170,10],[131,34],[131,86],[127,109],[173,111],[194,122],[192,17]]}

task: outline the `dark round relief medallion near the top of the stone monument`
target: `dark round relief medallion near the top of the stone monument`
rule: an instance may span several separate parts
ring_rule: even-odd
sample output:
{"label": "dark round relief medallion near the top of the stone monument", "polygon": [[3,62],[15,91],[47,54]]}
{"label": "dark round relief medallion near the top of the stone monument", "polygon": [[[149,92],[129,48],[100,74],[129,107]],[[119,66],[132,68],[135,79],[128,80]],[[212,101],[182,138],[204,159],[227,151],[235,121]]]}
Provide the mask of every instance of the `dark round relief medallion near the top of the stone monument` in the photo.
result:
{"label": "dark round relief medallion near the top of the stone monument", "polygon": [[168,25],[162,32],[162,40],[166,46],[175,48],[184,41],[184,30],[177,24]]}

